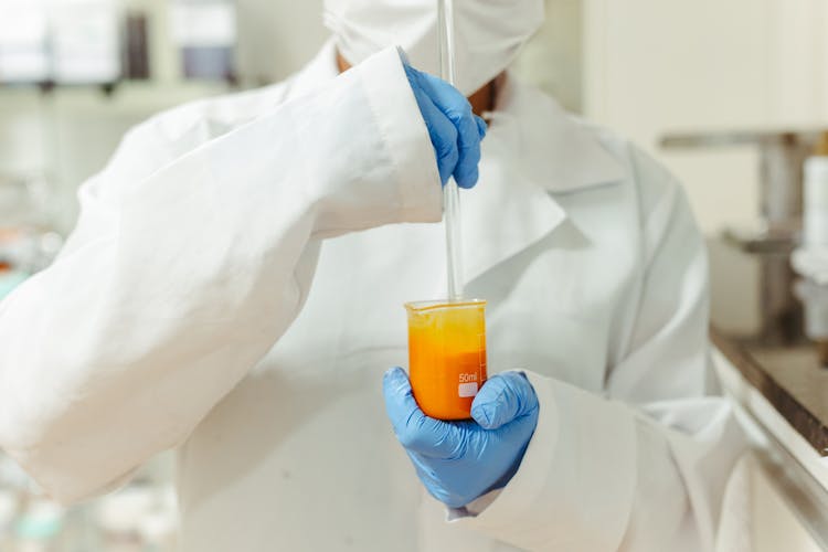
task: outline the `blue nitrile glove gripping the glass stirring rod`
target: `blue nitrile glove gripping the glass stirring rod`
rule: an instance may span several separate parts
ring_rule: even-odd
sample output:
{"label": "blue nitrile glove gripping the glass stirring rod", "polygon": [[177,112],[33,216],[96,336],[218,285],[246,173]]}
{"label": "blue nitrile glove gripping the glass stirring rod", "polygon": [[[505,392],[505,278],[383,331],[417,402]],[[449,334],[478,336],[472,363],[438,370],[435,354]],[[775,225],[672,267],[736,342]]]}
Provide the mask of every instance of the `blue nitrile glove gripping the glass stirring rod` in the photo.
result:
{"label": "blue nitrile glove gripping the glass stirring rod", "polygon": [[457,88],[407,63],[403,65],[434,146],[440,180],[445,184],[454,174],[457,185],[473,188],[486,123],[471,113],[471,105]]}

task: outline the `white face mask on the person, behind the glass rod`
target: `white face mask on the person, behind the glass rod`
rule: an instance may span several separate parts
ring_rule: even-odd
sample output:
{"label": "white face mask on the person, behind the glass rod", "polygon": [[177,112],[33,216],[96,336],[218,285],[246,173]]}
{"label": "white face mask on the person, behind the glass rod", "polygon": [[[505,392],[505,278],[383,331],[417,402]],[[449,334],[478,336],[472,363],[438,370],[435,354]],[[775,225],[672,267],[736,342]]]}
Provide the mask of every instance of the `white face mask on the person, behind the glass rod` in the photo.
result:
{"label": "white face mask on the person, behind the glass rod", "polygon": [[[500,74],[543,22],[543,0],[455,0],[457,88],[469,96]],[[411,64],[439,75],[437,0],[325,0],[325,24],[358,64],[399,45]]]}

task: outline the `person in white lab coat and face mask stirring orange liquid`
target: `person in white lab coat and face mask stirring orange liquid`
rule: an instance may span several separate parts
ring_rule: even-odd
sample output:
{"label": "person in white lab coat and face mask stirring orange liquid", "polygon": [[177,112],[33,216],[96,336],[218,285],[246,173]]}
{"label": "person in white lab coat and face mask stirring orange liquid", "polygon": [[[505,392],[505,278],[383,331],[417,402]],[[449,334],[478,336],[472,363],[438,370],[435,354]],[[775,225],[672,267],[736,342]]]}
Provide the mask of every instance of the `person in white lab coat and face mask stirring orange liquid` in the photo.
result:
{"label": "person in white lab coat and face mask stirring orange liquid", "polygon": [[386,46],[434,73],[433,4],[326,0],[333,36],[300,73],[153,117],[83,185],[59,259],[0,308],[0,446],[47,492],[174,447],[188,551],[713,548],[743,440],[704,243],[672,176],[508,72],[541,0],[457,2],[458,88],[489,123],[466,293],[492,381],[537,401],[528,440],[448,509],[397,443],[402,304],[446,283],[428,129]]}

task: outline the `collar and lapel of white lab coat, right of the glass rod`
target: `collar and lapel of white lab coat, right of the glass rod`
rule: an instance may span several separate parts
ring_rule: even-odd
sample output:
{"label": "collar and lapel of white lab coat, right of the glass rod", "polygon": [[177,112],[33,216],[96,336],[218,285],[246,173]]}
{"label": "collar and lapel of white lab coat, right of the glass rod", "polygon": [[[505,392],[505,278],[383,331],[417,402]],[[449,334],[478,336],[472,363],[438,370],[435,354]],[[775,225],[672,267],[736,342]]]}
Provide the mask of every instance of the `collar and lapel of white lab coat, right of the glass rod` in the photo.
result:
{"label": "collar and lapel of white lab coat, right of the glass rod", "polygon": [[624,176],[591,130],[511,75],[489,115],[480,181],[461,199],[467,284],[554,231],[566,219],[556,195]]}

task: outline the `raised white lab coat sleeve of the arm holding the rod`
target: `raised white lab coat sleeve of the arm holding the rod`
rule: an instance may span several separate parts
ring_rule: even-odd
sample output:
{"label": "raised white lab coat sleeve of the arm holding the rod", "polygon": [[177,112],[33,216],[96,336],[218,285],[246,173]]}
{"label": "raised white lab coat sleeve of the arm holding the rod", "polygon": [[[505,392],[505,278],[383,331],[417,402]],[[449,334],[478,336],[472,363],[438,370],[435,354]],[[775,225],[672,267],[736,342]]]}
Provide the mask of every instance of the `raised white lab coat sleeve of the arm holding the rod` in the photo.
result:
{"label": "raised white lab coat sleeve of the arm holding the rod", "polygon": [[179,146],[163,127],[126,138],[66,251],[0,304],[0,447],[64,502],[190,434],[291,323],[320,238],[442,214],[394,49],[147,169]]}

